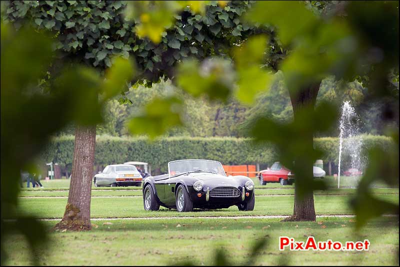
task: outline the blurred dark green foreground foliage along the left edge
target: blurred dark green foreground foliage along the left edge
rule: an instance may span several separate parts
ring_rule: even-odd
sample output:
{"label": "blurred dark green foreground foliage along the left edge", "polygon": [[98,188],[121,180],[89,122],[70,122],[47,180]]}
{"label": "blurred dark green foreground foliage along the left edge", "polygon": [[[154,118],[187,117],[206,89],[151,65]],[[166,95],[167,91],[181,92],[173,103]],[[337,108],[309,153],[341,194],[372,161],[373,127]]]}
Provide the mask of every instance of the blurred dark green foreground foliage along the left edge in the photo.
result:
{"label": "blurred dark green foreground foliage along the left edge", "polygon": [[[68,123],[101,122],[101,105],[133,73],[126,69],[127,60],[115,59],[105,80],[93,69],[72,64],[59,64],[58,72],[49,76],[56,56],[50,36],[28,27],[15,31],[1,23],[1,261],[6,258],[3,241],[11,232],[25,235],[33,252],[46,240],[34,218],[15,216],[20,171],[37,172],[37,155]],[[9,218],[16,221],[6,222]]]}

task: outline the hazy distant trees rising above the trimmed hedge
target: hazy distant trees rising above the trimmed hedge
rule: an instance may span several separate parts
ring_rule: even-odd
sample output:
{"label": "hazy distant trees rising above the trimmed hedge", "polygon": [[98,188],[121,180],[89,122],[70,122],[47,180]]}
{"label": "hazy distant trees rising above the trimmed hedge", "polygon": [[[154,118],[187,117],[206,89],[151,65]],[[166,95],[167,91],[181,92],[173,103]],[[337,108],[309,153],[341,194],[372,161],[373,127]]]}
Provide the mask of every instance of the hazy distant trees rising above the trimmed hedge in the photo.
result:
{"label": "hazy distant trees rising above the trimmed hedge", "polygon": [[[175,127],[164,136],[192,136],[192,137],[247,137],[246,130],[260,115],[267,114],[271,118],[288,122],[293,119],[293,109],[290,103],[286,86],[281,72],[275,74],[275,81],[271,90],[261,92],[253,105],[245,105],[235,99],[229,99],[227,103],[209,102],[206,98],[193,98],[181,92],[170,80],[161,81],[147,88],[144,85],[131,87],[125,93],[125,97],[131,100],[131,104],[121,105],[117,98],[111,99],[103,108],[104,122],[97,125],[98,135],[130,136],[126,122],[136,114],[142,105],[148,103],[155,96],[168,96],[179,92],[184,97],[183,120],[185,127]],[[334,77],[328,77],[321,83],[317,102],[327,101],[336,103],[350,101],[360,119],[362,133],[384,135],[388,123],[398,127],[398,114],[394,114],[391,121],[383,121],[388,102],[394,106],[392,110],[398,111],[398,102],[395,99],[386,101],[369,101],[365,98],[368,88],[364,88],[358,81],[344,83],[336,81]],[[397,108],[395,108],[397,107]],[[317,136],[338,136],[337,125],[333,125],[330,131]],[[69,125],[56,135],[72,135],[73,125]]]}

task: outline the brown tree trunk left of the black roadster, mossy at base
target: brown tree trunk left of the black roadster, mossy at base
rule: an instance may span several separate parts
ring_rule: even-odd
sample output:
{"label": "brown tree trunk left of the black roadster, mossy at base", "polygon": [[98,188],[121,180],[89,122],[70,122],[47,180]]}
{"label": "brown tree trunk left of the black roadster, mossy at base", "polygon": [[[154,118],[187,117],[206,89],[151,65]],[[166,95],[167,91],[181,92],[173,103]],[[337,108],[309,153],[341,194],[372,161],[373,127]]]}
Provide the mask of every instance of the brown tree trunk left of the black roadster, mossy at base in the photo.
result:
{"label": "brown tree trunk left of the black roadster, mossy at base", "polygon": [[96,126],[76,126],[68,202],[54,229],[89,230]]}

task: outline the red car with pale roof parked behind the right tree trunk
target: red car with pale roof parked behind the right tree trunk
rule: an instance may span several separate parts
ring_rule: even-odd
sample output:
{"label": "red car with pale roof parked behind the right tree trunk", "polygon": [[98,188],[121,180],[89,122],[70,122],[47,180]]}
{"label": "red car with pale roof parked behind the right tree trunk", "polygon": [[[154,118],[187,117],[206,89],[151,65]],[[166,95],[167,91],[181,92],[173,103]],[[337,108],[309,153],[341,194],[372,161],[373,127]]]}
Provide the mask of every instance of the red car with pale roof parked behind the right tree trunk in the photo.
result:
{"label": "red car with pale roof parked behind the right tree trunk", "polygon": [[265,185],[267,182],[279,182],[280,185],[292,183],[293,175],[290,170],[285,168],[280,162],[275,162],[266,170],[261,170],[258,174],[260,185]]}

